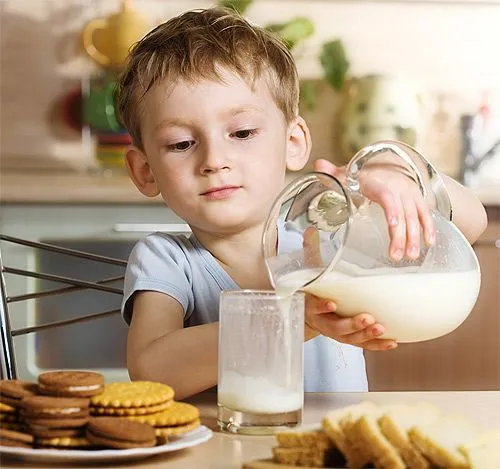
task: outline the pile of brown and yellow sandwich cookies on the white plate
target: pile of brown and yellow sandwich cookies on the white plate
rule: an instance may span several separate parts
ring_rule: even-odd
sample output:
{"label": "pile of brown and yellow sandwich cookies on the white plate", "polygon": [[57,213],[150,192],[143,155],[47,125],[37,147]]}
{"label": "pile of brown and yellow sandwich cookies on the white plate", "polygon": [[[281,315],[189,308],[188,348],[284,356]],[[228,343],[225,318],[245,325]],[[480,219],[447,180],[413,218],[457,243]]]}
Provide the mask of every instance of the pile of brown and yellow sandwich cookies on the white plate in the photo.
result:
{"label": "pile of brown and yellow sandwich cookies on the white plate", "polygon": [[104,384],[100,373],[51,371],[37,383],[0,380],[0,445],[145,448],[200,425],[165,384]]}

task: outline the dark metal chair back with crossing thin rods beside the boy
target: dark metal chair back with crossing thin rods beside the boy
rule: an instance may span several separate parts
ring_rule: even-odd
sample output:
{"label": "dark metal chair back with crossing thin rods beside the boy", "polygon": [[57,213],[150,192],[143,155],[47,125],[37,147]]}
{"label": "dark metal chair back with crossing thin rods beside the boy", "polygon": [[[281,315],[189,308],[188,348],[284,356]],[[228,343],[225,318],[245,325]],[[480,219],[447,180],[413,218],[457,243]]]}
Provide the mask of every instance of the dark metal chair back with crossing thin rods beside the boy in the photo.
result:
{"label": "dark metal chair back with crossing thin rods beside the boy", "polygon": [[[12,236],[0,235],[0,241],[28,246],[33,249],[52,251],[54,253],[67,256],[70,260],[87,259],[93,262],[113,264],[116,266],[123,267],[123,269],[125,269],[125,266],[127,265],[127,262],[125,260],[101,256],[97,254],[91,254],[88,252],[78,251],[74,249],[58,247],[46,243],[28,241],[25,239],[16,238]],[[60,284],[64,284],[66,286],[61,286],[58,288],[48,289],[44,291],[26,293],[22,295],[9,296],[9,294],[7,293],[7,281],[5,274],[49,280]],[[0,301],[0,334],[1,334],[0,378],[17,379],[17,367],[16,367],[16,359],[13,346],[14,337],[24,334],[30,334],[32,332],[41,331],[45,329],[67,326],[70,324],[80,323],[84,321],[97,320],[113,314],[118,314],[120,312],[119,309],[94,312],[91,314],[80,315],[78,317],[73,317],[70,319],[53,321],[40,325],[33,325],[29,327],[12,330],[11,319],[9,316],[9,305],[11,303],[37,299],[51,295],[64,295],[70,292],[75,292],[78,290],[86,290],[86,289],[100,290],[102,292],[121,296],[123,295],[123,288],[117,288],[116,286],[111,286],[111,284],[123,281],[123,278],[124,276],[120,275],[96,281],[85,281],[81,279],[64,277],[50,273],[36,272],[36,271],[18,269],[15,267],[8,267],[3,265],[2,253],[0,249],[0,300],[1,300]]]}

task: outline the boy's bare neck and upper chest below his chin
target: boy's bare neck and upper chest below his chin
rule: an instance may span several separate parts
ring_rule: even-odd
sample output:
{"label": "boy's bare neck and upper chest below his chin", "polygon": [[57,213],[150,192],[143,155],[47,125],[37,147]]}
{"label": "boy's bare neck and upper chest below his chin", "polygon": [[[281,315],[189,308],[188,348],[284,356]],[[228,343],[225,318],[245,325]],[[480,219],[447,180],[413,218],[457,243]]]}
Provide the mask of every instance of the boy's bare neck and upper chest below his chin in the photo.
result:
{"label": "boy's bare neck and upper chest below his chin", "polygon": [[262,229],[263,224],[224,236],[196,229],[193,233],[240,288],[270,289],[262,256]]}

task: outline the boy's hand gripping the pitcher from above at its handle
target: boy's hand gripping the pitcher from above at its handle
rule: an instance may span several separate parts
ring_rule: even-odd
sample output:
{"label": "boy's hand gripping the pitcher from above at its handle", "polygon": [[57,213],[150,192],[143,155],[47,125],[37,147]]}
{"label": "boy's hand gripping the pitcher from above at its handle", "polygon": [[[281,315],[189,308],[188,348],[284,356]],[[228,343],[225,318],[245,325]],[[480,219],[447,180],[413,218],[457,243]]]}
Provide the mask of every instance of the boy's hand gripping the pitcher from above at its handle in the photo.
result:
{"label": "boy's hand gripping the pitcher from above at its handle", "polygon": [[[314,170],[345,181],[345,168],[327,160],[316,160]],[[384,210],[391,239],[389,255],[394,260],[401,260],[405,254],[410,259],[419,256],[420,228],[425,242],[434,243],[436,234],[430,209],[418,186],[408,176],[391,165],[365,166],[359,183],[361,193]]]}

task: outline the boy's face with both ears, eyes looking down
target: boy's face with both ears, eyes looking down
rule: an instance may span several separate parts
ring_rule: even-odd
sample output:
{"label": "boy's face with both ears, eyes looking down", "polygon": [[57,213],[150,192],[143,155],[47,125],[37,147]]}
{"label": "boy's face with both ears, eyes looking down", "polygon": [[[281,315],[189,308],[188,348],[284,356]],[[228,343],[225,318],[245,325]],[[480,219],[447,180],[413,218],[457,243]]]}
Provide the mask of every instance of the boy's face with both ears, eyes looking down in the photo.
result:
{"label": "boy's face with both ears, eyes looking down", "polygon": [[144,152],[127,154],[129,173],[158,192],[193,229],[232,233],[262,223],[310,151],[301,118],[285,122],[264,79],[252,90],[224,71],[224,82],[160,83],[143,102]]}

